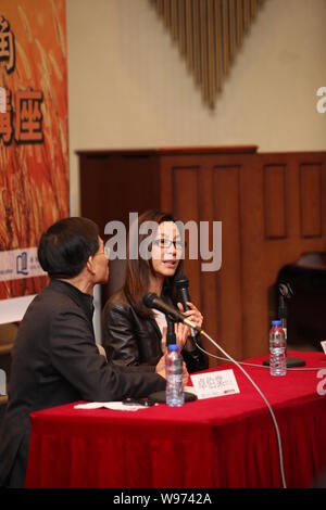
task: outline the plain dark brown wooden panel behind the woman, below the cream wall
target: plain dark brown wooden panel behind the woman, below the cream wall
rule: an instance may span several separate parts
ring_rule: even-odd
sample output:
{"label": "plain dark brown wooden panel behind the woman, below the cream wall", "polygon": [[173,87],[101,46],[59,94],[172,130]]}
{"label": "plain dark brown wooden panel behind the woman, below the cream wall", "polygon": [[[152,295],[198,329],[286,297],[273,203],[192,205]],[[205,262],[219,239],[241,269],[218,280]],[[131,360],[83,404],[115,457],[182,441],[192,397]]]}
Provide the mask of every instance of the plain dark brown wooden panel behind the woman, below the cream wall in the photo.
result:
{"label": "plain dark brown wooden panel behind the woman, below the cream wall", "polygon": [[[104,242],[108,221],[129,228],[129,213],[156,208],[160,176],[155,154],[140,151],[87,151],[79,153],[82,216],[99,225]],[[149,193],[148,190],[151,190]],[[103,302],[123,281],[124,262],[110,262],[109,285],[102,285]]]}

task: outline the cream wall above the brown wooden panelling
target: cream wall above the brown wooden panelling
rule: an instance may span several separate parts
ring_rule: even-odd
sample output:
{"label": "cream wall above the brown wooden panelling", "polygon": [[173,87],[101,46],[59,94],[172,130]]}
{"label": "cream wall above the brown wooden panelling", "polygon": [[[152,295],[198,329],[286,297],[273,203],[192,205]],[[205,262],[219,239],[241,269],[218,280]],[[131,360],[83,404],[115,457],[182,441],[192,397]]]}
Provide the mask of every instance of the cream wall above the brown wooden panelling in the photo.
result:
{"label": "cream wall above the brown wooden panelling", "polygon": [[148,0],[66,0],[72,214],[77,149],[326,150],[326,0],[266,0],[215,111]]}

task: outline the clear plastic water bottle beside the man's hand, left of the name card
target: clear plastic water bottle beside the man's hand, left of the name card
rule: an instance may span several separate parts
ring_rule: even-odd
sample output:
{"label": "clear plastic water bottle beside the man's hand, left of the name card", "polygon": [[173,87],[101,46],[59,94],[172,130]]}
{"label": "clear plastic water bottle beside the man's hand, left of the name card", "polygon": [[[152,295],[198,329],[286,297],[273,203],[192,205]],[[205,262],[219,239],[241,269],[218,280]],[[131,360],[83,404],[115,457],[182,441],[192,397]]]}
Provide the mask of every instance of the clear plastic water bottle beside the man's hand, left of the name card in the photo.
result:
{"label": "clear plastic water bottle beside the man's hand, left of the name card", "polygon": [[165,401],[167,406],[179,407],[185,403],[183,384],[184,367],[183,357],[176,344],[167,345],[165,356],[166,390]]}

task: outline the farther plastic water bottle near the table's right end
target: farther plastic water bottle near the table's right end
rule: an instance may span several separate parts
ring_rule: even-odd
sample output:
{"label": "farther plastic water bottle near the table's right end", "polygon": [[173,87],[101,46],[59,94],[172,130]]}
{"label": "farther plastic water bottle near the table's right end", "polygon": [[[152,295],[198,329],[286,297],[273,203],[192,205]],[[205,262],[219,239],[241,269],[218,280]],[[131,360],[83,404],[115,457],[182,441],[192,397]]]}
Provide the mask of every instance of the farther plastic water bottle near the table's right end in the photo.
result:
{"label": "farther plastic water bottle near the table's right end", "polygon": [[269,372],[271,375],[286,375],[286,339],[280,320],[273,320],[269,330]]}

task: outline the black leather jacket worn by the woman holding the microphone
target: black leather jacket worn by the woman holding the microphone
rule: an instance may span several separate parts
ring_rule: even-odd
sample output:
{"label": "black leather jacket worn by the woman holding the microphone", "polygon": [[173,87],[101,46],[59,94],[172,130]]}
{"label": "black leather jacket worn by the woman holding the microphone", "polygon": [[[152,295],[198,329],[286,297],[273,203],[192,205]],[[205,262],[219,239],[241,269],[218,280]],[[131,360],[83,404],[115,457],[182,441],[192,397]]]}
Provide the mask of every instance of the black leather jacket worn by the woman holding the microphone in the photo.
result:
{"label": "black leather jacket worn by the woman holding the microphone", "polygon": [[[155,319],[140,317],[121,291],[103,308],[102,333],[108,359],[116,365],[152,371],[162,357],[162,334]],[[187,344],[181,354],[189,373],[209,367],[204,353],[198,347],[193,350],[186,347]]]}

